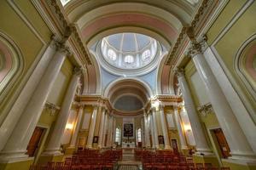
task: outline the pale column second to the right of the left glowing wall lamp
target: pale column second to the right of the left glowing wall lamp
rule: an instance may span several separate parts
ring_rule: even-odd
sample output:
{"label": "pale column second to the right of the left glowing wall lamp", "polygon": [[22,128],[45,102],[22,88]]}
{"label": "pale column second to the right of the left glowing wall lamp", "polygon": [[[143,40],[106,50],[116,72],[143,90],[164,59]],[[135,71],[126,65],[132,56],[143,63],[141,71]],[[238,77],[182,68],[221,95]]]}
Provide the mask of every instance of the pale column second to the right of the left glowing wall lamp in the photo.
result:
{"label": "pale column second to the right of the left glowing wall lamp", "polygon": [[92,115],[91,115],[91,120],[90,120],[90,129],[89,129],[87,145],[86,145],[87,148],[92,148],[94,130],[95,130],[95,125],[96,125],[97,111],[98,111],[98,106],[95,105],[94,109],[93,109],[93,112],[92,112]]}

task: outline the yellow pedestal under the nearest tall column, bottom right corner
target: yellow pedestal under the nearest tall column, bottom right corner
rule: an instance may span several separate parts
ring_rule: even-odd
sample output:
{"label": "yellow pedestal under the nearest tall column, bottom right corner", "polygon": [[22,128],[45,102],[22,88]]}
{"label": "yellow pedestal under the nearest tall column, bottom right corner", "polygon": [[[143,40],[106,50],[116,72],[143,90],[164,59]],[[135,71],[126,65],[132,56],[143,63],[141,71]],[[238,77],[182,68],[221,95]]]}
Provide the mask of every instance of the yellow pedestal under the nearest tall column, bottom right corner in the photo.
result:
{"label": "yellow pedestal under the nearest tall column, bottom right corner", "polygon": [[231,170],[255,170],[256,161],[253,162],[244,162],[243,160],[234,160],[234,159],[222,159],[223,167],[230,167]]}

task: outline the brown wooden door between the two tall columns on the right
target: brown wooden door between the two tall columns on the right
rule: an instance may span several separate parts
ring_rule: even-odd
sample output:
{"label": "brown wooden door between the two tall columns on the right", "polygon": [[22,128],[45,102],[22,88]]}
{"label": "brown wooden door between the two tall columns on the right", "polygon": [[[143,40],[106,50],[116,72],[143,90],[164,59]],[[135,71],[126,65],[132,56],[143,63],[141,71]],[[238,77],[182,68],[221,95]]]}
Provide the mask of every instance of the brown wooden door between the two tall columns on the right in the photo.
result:
{"label": "brown wooden door between the two tall columns on the right", "polygon": [[221,128],[213,129],[212,132],[218,142],[218,149],[223,158],[228,158],[230,156],[230,146],[225,139],[224,133]]}

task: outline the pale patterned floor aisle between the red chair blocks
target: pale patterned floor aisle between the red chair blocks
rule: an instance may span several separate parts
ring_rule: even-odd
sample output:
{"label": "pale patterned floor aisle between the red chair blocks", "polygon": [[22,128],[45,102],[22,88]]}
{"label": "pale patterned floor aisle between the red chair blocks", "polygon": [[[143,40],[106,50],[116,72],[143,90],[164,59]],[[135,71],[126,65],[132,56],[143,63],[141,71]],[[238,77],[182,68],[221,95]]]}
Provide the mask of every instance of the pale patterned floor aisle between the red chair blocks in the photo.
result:
{"label": "pale patterned floor aisle between the red chair blocks", "polygon": [[141,170],[142,162],[136,161],[133,149],[123,149],[123,159],[118,162],[119,170]]}

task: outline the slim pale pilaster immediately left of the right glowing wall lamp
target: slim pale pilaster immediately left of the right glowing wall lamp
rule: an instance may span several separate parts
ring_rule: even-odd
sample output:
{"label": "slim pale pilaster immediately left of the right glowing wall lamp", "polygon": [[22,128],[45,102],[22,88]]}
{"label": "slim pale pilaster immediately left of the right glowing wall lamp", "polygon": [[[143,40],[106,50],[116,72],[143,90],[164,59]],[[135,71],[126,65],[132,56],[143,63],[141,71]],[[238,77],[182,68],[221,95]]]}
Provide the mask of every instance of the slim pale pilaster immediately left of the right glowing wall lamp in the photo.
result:
{"label": "slim pale pilaster immediately left of the right glowing wall lamp", "polygon": [[181,149],[186,150],[186,149],[188,149],[188,146],[186,143],[186,139],[184,137],[182,122],[181,122],[177,107],[174,107],[174,118],[175,118],[175,122],[176,122],[176,126],[177,126],[177,133],[179,136]]}

